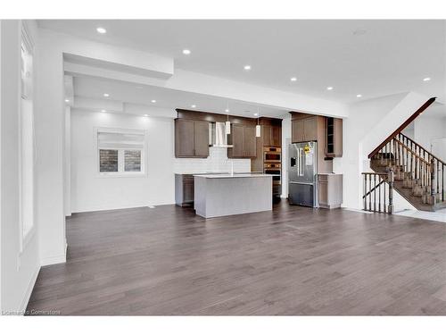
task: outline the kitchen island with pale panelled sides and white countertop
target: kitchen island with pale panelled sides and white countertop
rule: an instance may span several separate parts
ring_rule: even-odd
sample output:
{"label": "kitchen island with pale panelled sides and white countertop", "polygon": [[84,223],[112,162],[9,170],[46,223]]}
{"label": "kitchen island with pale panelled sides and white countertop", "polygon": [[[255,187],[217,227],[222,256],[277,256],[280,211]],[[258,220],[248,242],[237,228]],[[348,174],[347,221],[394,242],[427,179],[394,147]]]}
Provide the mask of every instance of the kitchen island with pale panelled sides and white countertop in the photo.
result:
{"label": "kitchen island with pale panelled sides and white countertop", "polygon": [[262,173],[194,175],[195,213],[211,218],[272,210],[272,176]]}

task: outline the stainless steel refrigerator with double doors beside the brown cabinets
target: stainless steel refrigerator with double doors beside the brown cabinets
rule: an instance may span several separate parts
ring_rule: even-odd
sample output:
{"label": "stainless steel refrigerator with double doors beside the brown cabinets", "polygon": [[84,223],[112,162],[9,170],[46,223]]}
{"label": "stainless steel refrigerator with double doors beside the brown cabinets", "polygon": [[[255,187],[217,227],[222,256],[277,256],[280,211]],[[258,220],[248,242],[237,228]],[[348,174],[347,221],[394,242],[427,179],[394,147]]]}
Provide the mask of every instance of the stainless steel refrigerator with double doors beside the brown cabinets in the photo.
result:
{"label": "stainless steel refrigerator with double doors beside the brown cabinets", "polygon": [[288,147],[288,200],[293,205],[318,207],[318,143]]}

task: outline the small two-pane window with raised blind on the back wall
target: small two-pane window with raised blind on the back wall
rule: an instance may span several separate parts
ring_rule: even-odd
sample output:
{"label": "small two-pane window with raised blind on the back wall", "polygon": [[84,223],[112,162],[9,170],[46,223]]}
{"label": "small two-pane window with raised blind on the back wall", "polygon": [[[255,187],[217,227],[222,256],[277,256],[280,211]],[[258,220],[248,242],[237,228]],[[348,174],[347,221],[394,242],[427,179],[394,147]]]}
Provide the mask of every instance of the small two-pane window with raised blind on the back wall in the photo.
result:
{"label": "small two-pane window with raised blind on the back wall", "polygon": [[103,175],[145,172],[144,130],[97,130],[98,171]]}

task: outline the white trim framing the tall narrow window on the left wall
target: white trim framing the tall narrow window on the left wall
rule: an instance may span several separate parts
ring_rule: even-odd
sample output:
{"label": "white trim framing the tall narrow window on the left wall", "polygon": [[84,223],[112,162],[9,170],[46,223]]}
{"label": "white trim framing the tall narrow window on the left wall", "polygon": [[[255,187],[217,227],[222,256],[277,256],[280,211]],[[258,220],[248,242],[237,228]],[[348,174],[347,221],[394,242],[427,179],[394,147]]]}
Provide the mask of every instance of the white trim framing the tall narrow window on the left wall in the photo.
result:
{"label": "white trim framing the tall narrow window on the left wall", "polygon": [[[31,36],[29,35],[29,29],[28,26],[26,24],[25,21],[21,21],[21,42],[24,42],[25,46],[28,48],[28,51],[30,54],[32,54],[33,58],[35,55],[35,47],[34,47],[34,41],[32,40]],[[20,43],[20,53],[21,53],[21,43]],[[34,62],[34,60],[33,60]],[[20,68],[19,70],[19,106],[20,108],[22,108],[22,102],[21,100],[24,98],[24,96],[22,96],[22,92],[21,92],[21,61],[20,61]],[[34,81],[35,81],[35,77],[33,75],[33,86],[34,86]],[[34,88],[33,88],[34,89]],[[32,100],[33,100],[33,105],[34,105],[34,95],[32,96]],[[35,180],[36,180],[36,176],[34,173],[33,176],[33,187],[32,187],[32,192],[33,192],[33,213],[32,213],[32,225],[31,228],[28,231],[24,231],[23,227],[23,204],[22,204],[22,159],[21,159],[21,155],[22,155],[22,132],[21,132],[21,128],[22,128],[22,120],[21,120],[21,113],[19,113],[19,173],[20,173],[20,178],[19,178],[19,247],[20,247],[20,252],[19,252],[19,256],[21,256],[24,252],[24,250],[26,249],[26,247],[29,245],[29,241],[34,237],[34,234],[36,233],[36,197],[35,197]],[[34,124],[34,107],[33,107],[33,124]],[[36,155],[36,139],[35,139],[35,132],[34,132],[34,125],[33,125],[33,151],[34,151],[34,159],[33,159],[33,164],[36,164],[35,162],[35,155]],[[19,265],[20,266],[20,265]]]}

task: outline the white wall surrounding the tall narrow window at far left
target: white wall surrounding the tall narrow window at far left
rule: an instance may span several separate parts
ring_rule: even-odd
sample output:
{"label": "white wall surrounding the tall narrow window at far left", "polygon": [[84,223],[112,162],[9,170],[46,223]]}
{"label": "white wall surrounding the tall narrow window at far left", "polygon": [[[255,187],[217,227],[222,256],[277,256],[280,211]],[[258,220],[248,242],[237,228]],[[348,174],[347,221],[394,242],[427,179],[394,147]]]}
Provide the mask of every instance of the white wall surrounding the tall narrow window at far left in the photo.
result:
{"label": "white wall surrounding the tall narrow window at far left", "polygon": [[[29,33],[37,44],[34,22]],[[38,225],[21,250],[19,114],[21,80],[21,21],[1,21],[1,308],[22,311],[40,269]],[[35,58],[36,59],[36,58]],[[35,72],[36,74],[36,72]],[[36,223],[35,223],[36,224]]]}

